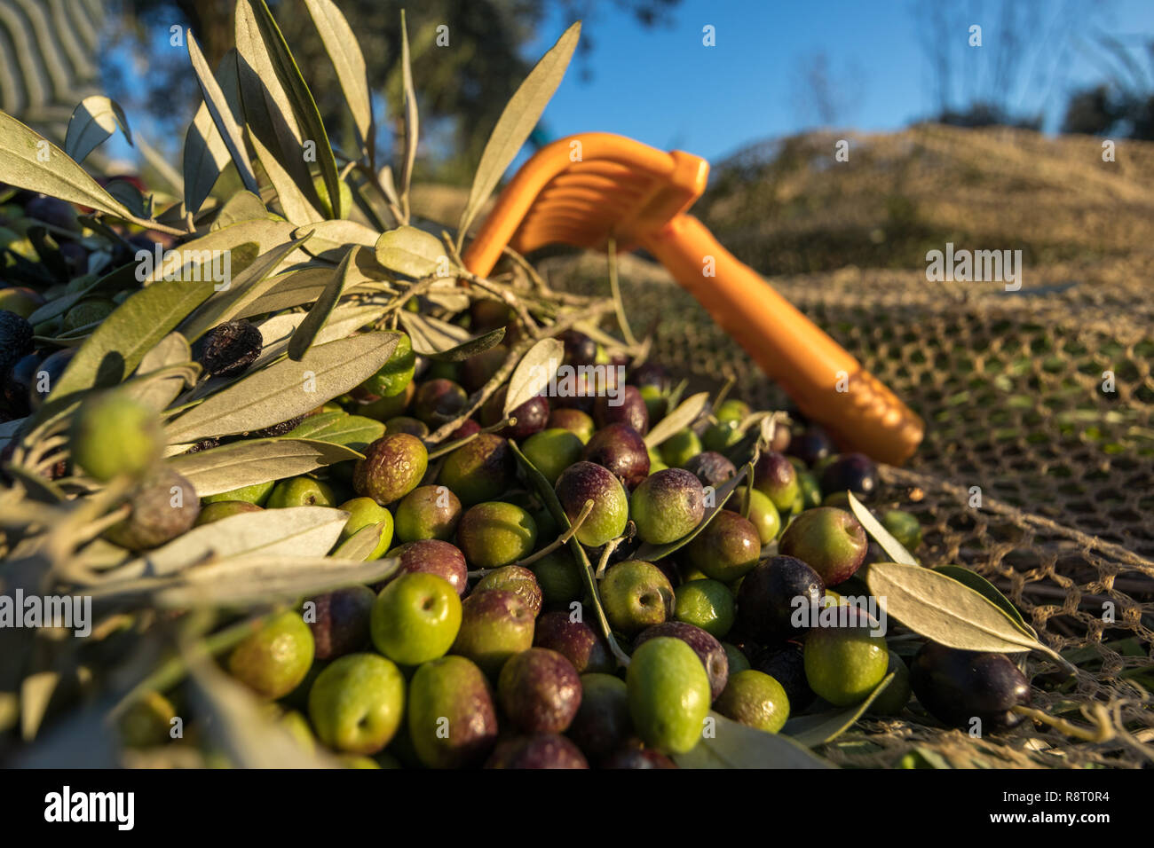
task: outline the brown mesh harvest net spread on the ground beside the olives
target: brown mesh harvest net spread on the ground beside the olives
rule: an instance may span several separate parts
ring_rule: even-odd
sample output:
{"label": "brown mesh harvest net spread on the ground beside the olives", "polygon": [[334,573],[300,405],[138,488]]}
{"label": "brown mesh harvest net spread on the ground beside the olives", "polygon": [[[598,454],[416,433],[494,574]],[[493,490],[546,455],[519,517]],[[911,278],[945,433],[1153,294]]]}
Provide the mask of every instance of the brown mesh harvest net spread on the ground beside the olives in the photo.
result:
{"label": "brown mesh harvest net spread on the ground beside the olives", "polygon": [[[589,255],[542,263],[552,283],[583,292],[605,292],[605,268]],[[620,270],[635,331],[652,329],[652,358],[691,390],[732,377],[732,396],[755,408],[788,405],[661,269],[623,257]],[[1072,652],[1079,674],[1064,681],[1031,656],[1034,706],[1080,721],[1079,706],[1099,703],[1119,729],[1107,743],[1040,726],[975,742],[931,719],[867,720],[825,755],[961,767],[1154,761],[1154,307],[1141,283],[1055,264],[1016,294],[855,268],[773,285],[926,420],[922,446],[904,468],[882,468],[871,505],[917,515],[923,564],[972,568],[1043,641]],[[1115,391],[1103,391],[1103,372]]]}

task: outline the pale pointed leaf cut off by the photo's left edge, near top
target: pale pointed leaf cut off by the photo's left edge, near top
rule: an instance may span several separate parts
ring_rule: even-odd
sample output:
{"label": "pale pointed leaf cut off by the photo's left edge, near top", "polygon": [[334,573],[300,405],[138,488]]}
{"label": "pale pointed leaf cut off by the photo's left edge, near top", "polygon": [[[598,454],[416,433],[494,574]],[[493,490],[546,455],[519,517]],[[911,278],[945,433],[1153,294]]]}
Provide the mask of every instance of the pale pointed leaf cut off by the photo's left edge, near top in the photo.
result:
{"label": "pale pointed leaf cut off by the photo's left edge, near top", "polygon": [[5,112],[0,112],[0,182],[118,218],[133,217],[63,150]]}

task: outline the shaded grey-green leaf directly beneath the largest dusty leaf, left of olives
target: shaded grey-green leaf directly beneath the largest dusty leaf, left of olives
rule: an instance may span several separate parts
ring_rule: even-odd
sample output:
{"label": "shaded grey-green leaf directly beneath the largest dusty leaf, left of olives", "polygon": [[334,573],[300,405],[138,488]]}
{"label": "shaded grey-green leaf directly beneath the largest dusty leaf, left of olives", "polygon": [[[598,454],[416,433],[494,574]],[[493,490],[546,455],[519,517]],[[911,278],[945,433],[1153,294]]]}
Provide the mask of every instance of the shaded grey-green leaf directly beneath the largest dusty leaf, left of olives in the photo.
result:
{"label": "shaded grey-green leaf directly beneath the largest dusty leaf, left of olives", "polygon": [[[383,431],[384,426],[381,428]],[[284,438],[246,438],[187,453],[170,459],[168,466],[192,483],[197,497],[207,497],[361,458],[357,450],[330,440],[290,434]]]}

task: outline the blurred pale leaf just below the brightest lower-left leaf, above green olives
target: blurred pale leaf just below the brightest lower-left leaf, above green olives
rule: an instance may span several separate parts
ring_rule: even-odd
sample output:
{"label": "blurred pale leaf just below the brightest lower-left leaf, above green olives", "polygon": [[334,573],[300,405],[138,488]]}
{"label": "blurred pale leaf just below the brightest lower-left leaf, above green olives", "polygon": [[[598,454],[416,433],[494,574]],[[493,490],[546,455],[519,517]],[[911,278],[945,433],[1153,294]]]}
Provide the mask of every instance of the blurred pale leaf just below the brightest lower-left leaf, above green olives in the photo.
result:
{"label": "blurred pale leaf just below the brightest lower-left leaf, above green olives", "polygon": [[152,598],[162,607],[260,607],[379,583],[398,568],[399,557],[359,562],[323,556],[245,554],[189,569],[172,585],[156,591]]}

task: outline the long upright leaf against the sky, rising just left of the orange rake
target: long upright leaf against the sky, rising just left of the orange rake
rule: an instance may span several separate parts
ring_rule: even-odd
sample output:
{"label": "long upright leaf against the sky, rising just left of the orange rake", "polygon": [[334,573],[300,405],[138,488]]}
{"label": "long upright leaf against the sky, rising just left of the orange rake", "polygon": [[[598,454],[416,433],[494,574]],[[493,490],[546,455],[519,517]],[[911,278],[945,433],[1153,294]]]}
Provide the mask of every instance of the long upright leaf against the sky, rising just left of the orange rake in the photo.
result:
{"label": "long upright leaf against the sky, rising just left of the orange rake", "polygon": [[562,33],[557,43],[529,72],[529,76],[505,104],[496,127],[493,128],[493,134],[489,135],[489,140],[485,144],[481,162],[477,166],[475,177],[473,177],[469,202],[465,204],[465,211],[462,212],[460,223],[457,226],[458,247],[464,243],[470,224],[473,223],[477,213],[481,211],[481,207],[493,194],[493,189],[501,181],[509,163],[520,151],[525,140],[533,132],[533,127],[541,119],[546,104],[565,75],[578,38],[580,38],[580,21]]}

